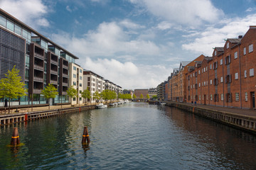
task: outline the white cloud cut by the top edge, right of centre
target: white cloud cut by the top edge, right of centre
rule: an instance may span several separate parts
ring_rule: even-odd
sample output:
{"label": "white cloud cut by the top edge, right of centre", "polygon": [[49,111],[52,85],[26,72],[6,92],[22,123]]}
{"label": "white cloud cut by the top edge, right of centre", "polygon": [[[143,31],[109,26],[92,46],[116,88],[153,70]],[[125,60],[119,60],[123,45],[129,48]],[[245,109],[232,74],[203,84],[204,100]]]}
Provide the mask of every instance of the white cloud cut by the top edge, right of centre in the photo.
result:
{"label": "white cloud cut by the top edge, right of centre", "polygon": [[130,0],[147,9],[154,16],[183,26],[200,26],[203,22],[213,23],[223,16],[210,0]]}

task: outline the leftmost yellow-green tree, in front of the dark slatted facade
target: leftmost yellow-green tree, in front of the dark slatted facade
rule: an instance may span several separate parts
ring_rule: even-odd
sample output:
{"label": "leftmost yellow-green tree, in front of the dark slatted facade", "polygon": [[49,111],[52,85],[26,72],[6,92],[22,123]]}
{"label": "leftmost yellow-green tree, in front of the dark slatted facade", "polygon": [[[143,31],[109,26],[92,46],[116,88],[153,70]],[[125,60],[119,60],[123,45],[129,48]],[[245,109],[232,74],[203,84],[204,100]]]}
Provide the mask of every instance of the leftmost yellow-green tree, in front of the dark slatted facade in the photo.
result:
{"label": "leftmost yellow-green tree, in front of the dark slatted facade", "polygon": [[9,98],[9,113],[10,113],[10,103],[11,99],[20,98],[26,96],[27,89],[25,84],[21,81],[21,77],[18,76],[19,70],[14,68],[8,70],[8,73],[5,74],[6,78],[1,79],[0,81],[0,97]]}

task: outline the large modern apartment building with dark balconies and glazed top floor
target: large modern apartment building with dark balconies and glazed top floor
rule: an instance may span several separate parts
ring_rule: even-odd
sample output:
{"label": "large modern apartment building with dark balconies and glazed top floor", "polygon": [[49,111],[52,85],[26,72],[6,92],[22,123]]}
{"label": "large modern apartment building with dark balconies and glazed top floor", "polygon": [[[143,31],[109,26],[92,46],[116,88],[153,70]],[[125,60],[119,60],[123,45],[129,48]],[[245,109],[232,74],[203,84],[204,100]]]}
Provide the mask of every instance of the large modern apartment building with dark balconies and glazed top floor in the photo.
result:
{"label": "large modern apartment building with dark balconies and glazed top floor", "polygon": [[0,8],[0,78],[16,65],[28,89],[28,96],[17,98],[12,105],[45,104],[41,90],[49,83],[59,93],[50,105],[68,103],[68,66],[76,59],[71,52]]}

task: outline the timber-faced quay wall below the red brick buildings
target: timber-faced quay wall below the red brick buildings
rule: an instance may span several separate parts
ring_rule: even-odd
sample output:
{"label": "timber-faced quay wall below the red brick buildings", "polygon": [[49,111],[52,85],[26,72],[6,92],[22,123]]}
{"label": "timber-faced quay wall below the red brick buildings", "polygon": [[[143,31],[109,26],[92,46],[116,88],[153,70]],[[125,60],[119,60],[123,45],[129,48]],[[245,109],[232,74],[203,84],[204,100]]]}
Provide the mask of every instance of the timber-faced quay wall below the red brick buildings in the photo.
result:
{"label": "timber-faced quay wall below the red brick buildings", "polygon": [[[196,115],[201,115],[205,118],[209,118],[211,120],[218,121],[219,123],[223,123],[225,125],[232,126],[233,128],[238,128],[240,130],[245,130],[256,135],[256,112],[255,116],[253,115],[243,115],[239,113],[232,113],[230,111],[217,111],[212,108],[203,108],[200,105],[195,106],[186,103],[176,103],[171,101],[164,101],[166,106],[181,108],[190,113],[194,113]],[[159,101],[149,101],[149,104],[159,103]],[[221,108],[221,107],[220,107]],[[240,109],[240,108],[238,108]],[[240,112],[242,113],[242,109]]]}

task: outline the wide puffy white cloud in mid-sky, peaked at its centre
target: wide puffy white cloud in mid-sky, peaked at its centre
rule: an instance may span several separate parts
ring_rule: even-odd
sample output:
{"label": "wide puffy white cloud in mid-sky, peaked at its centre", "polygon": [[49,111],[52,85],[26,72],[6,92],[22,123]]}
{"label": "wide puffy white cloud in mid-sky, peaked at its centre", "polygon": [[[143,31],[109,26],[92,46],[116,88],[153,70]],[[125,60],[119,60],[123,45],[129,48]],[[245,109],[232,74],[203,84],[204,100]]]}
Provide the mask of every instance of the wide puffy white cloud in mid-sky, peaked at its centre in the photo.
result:
{"label": "wide puffy white cloud in mid-sky, peaked at its centre", "polygon": [[101,23],[97,30],[90,30],[79,38],[65,32],[53,34],[51,38],[78,56],[113,57],[118,54],[149,57],[161,53],[161,47],[154,42],[129,37],[116,22]]}

